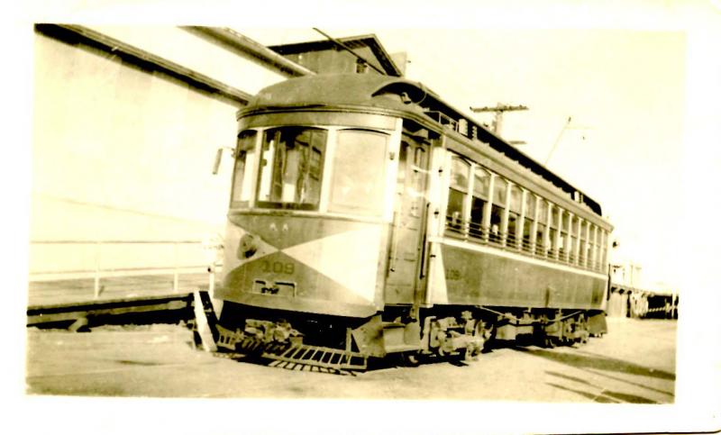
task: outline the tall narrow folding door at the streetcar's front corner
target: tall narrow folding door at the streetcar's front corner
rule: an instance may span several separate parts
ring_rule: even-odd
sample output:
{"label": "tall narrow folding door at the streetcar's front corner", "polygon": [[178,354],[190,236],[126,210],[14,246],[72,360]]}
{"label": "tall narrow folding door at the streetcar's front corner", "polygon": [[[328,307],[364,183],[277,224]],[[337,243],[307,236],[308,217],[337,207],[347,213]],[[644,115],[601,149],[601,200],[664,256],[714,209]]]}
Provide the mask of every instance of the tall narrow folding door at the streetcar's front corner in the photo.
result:
{"label": "tall narrow folding door at the streetcar's front corner", "polygon": [[417,304],[422,300],[429,154],[426,140],[403,135],[388,250],[387,304]]}

